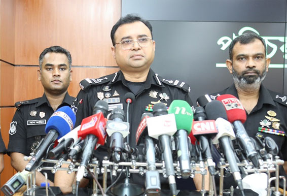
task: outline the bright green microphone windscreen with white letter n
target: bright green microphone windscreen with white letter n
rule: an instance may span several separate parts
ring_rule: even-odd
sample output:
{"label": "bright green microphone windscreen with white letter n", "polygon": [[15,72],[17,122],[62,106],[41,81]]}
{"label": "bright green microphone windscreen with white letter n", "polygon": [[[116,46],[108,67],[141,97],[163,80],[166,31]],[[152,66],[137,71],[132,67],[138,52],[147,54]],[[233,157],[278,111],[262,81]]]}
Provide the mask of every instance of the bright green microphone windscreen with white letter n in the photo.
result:
{"label": "bright green microphone windscreen with white letter n", "polygon": [[184,100],[173,100],[169,106],[168,114],[174,114],[177,130],[184,129],[191,132],[193,112],[190,105]]}

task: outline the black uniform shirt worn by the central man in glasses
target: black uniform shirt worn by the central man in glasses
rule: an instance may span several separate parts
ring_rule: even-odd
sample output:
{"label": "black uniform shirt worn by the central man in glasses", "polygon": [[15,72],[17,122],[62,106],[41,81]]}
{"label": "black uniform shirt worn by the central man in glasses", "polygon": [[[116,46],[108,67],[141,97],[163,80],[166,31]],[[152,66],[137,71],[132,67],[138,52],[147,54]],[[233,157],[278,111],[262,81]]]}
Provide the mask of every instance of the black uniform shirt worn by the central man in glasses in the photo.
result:
{"label": "black uniform shirt worn by the central man in glasses", "polygon": [[[124,78],[121,71],[114,74],[104,76],[98,79],[85,79],[81,81],[80,87],[82,90],[77,96],[72,109],[76,111],[76,126],[81,124],[83,118],[93,114],[93,107],[100,99],[108,99],[109,112],[115,107],[120,107],[124,110],[126,115],[127,104],[124,100],[124,95],[127,92],[132,92]],[[129,107],[129,123],[130,123],[130,141],[131,147],[135,147],[135,133],[140,122],[142,113],[149,112],[149,105],[154,105],[161,102],[167,105],[171,104],[173,100],[185,100],[191,106],[192,102],[188,95],[190,87],[188,84],[178,80],[166,80],[150,69],[147,80],[142,84],[142,87],[135,94],[135,100]],[[110,97],[110,98],[107,98]],[[147,108],[147,110],[146,110]],[[139,154],[142,154],[142,144],[137,146]],[[99,147],[95,151],[95,156],[102,160],[103,156],[107,156],[107,145]],[[139,157],[138,161],[143,161]],[[139,174],[134,174],[133,182],[137,184],[144,184],[145,180]],[[137,176],[137,177],[136,177]],[[161,181],[163,183],[163,181]],[[163,188],[163,187],[162,187]]]}

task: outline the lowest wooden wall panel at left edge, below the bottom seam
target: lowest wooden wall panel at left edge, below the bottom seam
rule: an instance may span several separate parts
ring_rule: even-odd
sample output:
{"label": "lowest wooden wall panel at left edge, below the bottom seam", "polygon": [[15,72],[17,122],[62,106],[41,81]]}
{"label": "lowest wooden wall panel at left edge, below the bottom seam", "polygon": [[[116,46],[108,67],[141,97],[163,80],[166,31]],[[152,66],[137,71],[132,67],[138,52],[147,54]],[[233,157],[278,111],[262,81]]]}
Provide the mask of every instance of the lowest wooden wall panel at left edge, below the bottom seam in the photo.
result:
{"label": "lowest wooden wall panel at left edge, below the bottom seam", "polygon": [[[12,121],[12,118],[15,113],[15,108],[1,108],[1,134],[3,141],[6,145],[6,148],[8,146],[9,142],[9,129],[10,129],[10,122]],[[11,159],[10,156],[7,154],[4,155],[4,170],[1,173],[0,176],[0,182],[1,187],[14,175],[14,169],[11,166]],[[0,195],[4,195],[3,192],[1,192]]]}

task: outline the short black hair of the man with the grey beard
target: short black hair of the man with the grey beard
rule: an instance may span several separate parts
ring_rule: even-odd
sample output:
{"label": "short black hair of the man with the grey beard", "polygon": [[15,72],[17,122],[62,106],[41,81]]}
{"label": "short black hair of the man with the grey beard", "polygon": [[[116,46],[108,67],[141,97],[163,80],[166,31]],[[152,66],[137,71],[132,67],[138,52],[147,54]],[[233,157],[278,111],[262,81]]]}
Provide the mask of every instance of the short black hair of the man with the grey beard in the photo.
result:
{"label": "short black hair of the man with the grey beard", "polygon": [[258,34],[255,32],[245,32],[241,36],[238,36],[234,40],[232,40],[231,44],[229,45],[229,58],[232,60],[233,58],[233,47],[234,45],[239,42],[240,44],[249,44],[251,42],[254,42],[255,40],[260,40],[264,46],[264,52],[266,55],[266,44],[263,38],[261,38]]}

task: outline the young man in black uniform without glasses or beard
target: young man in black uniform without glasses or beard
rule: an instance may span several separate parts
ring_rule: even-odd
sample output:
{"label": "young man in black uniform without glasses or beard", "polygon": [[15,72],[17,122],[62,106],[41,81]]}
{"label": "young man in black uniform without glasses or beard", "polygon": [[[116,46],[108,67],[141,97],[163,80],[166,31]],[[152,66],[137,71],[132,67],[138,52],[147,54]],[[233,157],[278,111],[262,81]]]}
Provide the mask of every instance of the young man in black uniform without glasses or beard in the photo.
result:
{"label": "young man in black uniform without glasses or beard", "polygon": [[[24,156],[35,152],[40,140],[45,137],[45,126],[50,116],[62,106],[71,106],[74,98],[67,89],[71,81],[71,55],[60,47],[46,48],[39,57],[38,80],[42,82],[44,94],[37,99],[17,102],[17,110],[10,123],[8,154],[11,165],[22,171],[28,161]],[[51,173],[50,173],[51,174]],[[45,182],[45,177],[37,172],[36,183]],[[54,175],[49,175],[53,186]]]}

